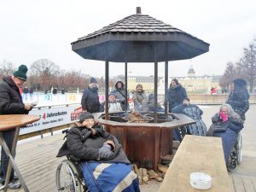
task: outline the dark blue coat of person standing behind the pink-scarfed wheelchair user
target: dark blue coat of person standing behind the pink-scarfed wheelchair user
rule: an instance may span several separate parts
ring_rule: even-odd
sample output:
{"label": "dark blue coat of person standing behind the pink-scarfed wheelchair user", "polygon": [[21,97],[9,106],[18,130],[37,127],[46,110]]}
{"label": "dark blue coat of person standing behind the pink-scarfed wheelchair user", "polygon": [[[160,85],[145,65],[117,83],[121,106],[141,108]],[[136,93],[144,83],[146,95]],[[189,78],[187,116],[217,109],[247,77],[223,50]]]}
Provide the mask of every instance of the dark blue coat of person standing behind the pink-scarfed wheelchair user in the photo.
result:
{"label": "dark blue coat of person standing behind the pink-scarfed wheelchair user", "polygon": [[245,113],[249,109],[249,97],[246,88],[236,86],[235,90],[230,92],[226,103],[230,104],[234,111],[241,116],[241,119],[245,120]]}

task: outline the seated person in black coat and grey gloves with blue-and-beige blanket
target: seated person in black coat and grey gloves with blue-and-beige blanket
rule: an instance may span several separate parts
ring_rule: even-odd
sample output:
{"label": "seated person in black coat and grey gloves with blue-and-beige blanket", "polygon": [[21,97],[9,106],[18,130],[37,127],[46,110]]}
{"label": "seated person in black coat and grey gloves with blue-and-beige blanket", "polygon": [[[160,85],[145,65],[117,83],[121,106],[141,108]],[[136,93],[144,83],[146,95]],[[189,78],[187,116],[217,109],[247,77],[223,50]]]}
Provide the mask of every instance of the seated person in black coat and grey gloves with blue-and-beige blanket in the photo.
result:
{"label": "seated person in black coat and grey gloves with blue-and-beige blanket", "polygon": [[137,174],[122,146],[89,112],[81,113],[79,122],[68,131],[57,157],[63,155],[82,166],[90,192],[140,191]]}

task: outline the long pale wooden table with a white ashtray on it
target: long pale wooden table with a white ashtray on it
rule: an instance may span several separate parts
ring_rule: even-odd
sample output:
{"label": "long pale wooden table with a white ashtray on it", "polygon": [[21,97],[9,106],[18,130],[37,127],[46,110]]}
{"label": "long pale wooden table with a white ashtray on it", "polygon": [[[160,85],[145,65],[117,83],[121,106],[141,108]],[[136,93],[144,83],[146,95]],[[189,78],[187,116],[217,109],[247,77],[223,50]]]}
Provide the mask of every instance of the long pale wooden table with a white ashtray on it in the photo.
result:
{"label": "long pale wooden table with a white ashtray on it", "polygon": [[234,191],[219,137],[185,136],[158,192],[202,191],[191,187],[192,172],[205,172],[212,177],[212,188],[207,192]]}

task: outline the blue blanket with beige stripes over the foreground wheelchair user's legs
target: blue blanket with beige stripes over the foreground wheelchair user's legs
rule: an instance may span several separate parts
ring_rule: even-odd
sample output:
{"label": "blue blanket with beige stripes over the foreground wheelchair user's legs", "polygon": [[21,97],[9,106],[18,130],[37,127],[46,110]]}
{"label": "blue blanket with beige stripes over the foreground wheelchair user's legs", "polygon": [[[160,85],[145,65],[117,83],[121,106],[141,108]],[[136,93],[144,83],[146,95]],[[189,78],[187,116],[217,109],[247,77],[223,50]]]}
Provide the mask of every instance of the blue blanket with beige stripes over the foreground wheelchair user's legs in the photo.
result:
{"label": "blue blanket with beige stripes over the foreground wheelchair user's legs", "polygon": [[82,163],[84,180],[91,192],[139,192],[138,178],[124,163]]}

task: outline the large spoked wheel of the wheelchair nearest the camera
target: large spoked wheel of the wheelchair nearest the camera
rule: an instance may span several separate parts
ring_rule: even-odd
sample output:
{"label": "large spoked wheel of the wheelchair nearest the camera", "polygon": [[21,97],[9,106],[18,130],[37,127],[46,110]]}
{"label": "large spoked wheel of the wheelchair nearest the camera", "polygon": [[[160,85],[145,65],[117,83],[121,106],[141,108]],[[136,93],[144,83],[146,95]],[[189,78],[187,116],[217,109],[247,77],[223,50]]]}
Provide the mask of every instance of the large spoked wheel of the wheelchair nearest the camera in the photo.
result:
{"label": "large spoked wheel of the wheelchair nearest the camera", "polygon": [[70,160],[62,160],[56,171],[56,187],[58,192],[82,192],[82,184],[76,167]]}

